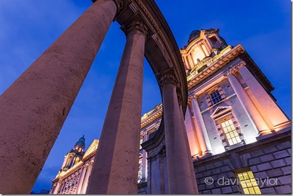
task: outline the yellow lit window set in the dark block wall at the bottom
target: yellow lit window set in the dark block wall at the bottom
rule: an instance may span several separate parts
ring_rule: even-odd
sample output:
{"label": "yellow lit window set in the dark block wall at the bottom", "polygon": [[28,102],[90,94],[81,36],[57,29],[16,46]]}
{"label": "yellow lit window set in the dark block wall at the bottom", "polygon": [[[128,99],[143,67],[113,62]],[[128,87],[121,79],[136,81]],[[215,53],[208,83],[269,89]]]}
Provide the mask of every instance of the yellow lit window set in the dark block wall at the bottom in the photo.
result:
{"label": "yellow lit window set in the dark block wall at the bottom", "polygon": [[237,174],[244,194],[261,194],[259,185],[251,171]]}

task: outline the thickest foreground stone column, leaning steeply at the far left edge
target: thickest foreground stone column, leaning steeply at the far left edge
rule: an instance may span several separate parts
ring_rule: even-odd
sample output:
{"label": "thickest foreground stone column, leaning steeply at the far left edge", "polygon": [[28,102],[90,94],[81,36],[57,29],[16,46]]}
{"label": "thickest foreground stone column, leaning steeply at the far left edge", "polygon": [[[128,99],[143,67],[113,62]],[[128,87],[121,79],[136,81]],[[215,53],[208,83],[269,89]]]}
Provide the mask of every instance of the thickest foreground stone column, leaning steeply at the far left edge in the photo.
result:
{"label": "thickest foreground stone column, leaning steeply at the far left edge", "polygon": [[97,0],[0,96],[1,194],[32,190],[116,11]]}

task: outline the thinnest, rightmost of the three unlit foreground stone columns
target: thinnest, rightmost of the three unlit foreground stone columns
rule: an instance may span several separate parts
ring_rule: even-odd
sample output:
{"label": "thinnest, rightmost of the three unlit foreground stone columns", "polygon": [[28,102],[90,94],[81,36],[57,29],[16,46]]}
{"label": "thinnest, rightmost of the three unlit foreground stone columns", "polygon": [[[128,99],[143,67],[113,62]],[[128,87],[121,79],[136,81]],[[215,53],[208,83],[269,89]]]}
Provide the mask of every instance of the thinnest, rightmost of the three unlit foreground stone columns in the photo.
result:
{"label": "thinnest, rightmost of the three unlit foreground stone columns", "polygon": [[176,92],[177,83],[173,73],[161,76],[168,194],[195,194],[195,174],[191,172],[192,159]]}

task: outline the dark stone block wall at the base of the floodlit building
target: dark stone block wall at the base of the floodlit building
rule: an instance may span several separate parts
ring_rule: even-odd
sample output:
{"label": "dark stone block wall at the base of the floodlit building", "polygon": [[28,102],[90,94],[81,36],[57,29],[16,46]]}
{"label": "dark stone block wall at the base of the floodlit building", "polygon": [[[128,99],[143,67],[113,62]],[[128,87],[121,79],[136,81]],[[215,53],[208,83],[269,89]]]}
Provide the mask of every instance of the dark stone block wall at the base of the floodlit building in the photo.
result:
{"label": "dark stone block wall at the base of the floodlit building", "polygon": [[203,158],[194,166],[199,194],[242,194],[234,182],[237,173],[247,170],[261,180],[262,194],[291,194],[291,130]]}

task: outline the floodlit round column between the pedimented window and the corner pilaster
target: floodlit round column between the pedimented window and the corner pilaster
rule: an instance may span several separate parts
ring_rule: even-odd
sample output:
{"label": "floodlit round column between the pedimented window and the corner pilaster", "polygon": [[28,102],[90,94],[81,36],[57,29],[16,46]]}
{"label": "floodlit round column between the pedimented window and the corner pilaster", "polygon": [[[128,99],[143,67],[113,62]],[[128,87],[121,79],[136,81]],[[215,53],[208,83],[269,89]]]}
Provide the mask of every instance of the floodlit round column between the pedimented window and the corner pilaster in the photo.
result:
{"label": "floodlit round column between the pedimented window and the corner pilaster", "polygon": [[263,120],[259,111],[256,109],[255,105],[252,103],[251,99],[248,97],[241,83],[237,80],[237,78],[232,74],[228,73],[228,81],[230,82],[234,92],[237,95],[242,107],[244,108],[245,113],[250,119],[252,125],[255,130],[258,131],[259,135],[265,134],[269,131],[269,127]]}

